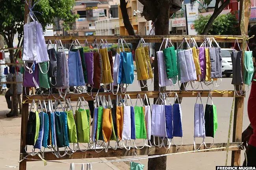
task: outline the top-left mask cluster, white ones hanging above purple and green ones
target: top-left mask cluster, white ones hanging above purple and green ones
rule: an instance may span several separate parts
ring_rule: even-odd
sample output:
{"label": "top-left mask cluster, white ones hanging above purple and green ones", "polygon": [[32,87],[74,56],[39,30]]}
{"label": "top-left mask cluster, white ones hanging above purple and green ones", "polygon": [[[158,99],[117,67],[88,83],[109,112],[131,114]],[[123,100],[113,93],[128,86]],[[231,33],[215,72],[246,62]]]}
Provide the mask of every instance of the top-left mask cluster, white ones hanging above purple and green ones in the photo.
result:
{"label": "top-left mask cluster, white ones hanging above purple and green ones", "polygon": [[[43,27],[34,17],[33,13],[30,13],[27,23],[24,25],[22,60],[24,61],[25,71],[23,86],[39,88],[41,83],[42,86],[48,87],[48,77],[45,76],[45,74],[48,73],[48,62],[50,59],[46,49]],[[30,22],[30,19],[32,19],[33,22]]]}

